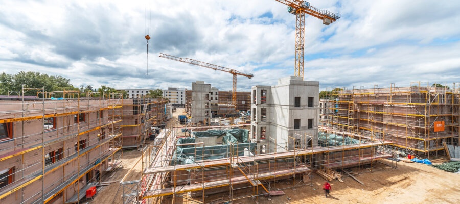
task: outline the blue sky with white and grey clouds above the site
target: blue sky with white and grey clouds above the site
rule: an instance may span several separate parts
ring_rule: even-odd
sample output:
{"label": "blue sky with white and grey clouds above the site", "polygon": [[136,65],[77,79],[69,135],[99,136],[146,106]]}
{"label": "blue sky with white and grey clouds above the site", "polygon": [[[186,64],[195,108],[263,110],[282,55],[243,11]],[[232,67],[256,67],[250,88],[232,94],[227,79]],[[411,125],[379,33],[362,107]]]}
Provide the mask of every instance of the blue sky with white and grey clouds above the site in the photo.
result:
{"label": "blue sky with white and grey clouds above the site", "polygon": [[[460,1],[310,4],[341,14],[329,26],[306,17],[304,78],[321,89],[460,82]],[[294,74],[294,44],[295,16],[274,0],[0,2],[0,72],[62,75],[75,86],[190,88],[202,80],[231,89],[231,74],[162,52],[253,73],[238,77],[238,90],[249,90]]]}

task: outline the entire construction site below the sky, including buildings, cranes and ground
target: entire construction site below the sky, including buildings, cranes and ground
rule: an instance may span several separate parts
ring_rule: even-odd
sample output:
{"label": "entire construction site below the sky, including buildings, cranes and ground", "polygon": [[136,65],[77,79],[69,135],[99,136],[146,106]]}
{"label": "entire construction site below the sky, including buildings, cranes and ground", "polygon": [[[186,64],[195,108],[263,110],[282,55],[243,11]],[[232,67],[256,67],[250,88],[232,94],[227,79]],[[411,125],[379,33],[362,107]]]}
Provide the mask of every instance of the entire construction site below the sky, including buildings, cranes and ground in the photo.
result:
{"label": "entire construction site below the sky, including buildings, cranes and ground", "polygon": [[202,77],[169,87],[174,101],[153,87],[135,98],[139,87],[120,89],[131,98],[103,86],[8,90],[0,203],[459,203],[460,83],[305,80],[305,17],[323,26],[341,15],[277,2],[295,16],[294,75],[238,90],[237,77],[258,72],[159,53],[160,63],[225,72],[232,89]]}

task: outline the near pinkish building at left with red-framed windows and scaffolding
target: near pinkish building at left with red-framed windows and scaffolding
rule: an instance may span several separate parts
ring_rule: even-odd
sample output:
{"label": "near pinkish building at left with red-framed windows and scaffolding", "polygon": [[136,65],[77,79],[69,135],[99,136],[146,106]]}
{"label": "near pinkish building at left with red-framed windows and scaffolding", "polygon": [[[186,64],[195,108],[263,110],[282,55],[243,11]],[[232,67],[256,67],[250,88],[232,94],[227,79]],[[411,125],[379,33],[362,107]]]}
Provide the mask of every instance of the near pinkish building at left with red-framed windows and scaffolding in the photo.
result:
{"label": "near pinkish building at left with red-framed windows and scaffolding", "polygon": [[78,203],[122,166],[122,96],[30,92],[42,98],[0,101],[0,202]]}

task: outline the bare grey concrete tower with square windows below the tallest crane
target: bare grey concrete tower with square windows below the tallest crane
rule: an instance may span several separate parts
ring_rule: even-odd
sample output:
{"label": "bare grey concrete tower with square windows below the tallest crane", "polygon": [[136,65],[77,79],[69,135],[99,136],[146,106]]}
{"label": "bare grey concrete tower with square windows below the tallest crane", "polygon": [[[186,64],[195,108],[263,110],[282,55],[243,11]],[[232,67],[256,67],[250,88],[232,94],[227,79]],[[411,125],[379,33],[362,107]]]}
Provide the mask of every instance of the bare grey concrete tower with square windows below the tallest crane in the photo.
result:
{"label": "bare grey concrete tower with square windows below the tallest crane", "polygon": [[263,149],[269,142],[304,145],[301,139],[305,135],[317,137],[318,97],[319,82],[301,77],[281,78],[274,86],[253,86],[251,139]]}

